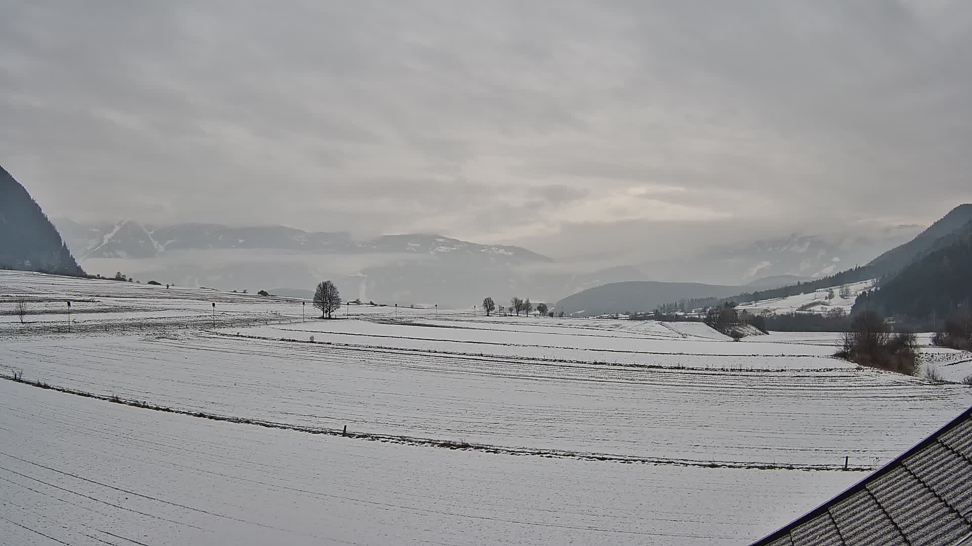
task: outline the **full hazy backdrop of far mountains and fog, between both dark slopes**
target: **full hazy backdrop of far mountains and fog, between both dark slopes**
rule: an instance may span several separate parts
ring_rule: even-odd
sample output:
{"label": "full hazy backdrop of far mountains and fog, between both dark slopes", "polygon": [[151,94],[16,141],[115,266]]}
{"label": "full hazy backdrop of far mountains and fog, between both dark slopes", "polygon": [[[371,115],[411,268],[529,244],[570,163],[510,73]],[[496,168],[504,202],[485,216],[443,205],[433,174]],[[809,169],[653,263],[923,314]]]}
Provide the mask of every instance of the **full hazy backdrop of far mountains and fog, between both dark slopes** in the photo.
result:
{"label": "full hazy backdrop of far mountains and fog, between both dark slopes", "polygon": [[[88,269],[139,279],[236,290],[308,290],[332,279],[350,299],[471,307],[489,295],[553,303],[620,282],[686,279],[700,291],[676,299],[776,289],[838,265],[860,263],[910,239],[914,226],[874,226],[856,234],[797,235],[711,249],[694,257],[590,269],[527,249],[482,245],[435,234],[356,240],[344,232],[216,223],[151,225],[134,221],[56,221]],[[699,281],[699,282],[694,282]],[[741,287],[749,283],[746,287]],[[677,285],[678,283],[675,283]],[[663,301],[670,303],[672,300]],[[633,301],[623,301],[621,311]],[[637,309],[643,311],[644,309]],[[649,309],[650,310],[650,309]]]}

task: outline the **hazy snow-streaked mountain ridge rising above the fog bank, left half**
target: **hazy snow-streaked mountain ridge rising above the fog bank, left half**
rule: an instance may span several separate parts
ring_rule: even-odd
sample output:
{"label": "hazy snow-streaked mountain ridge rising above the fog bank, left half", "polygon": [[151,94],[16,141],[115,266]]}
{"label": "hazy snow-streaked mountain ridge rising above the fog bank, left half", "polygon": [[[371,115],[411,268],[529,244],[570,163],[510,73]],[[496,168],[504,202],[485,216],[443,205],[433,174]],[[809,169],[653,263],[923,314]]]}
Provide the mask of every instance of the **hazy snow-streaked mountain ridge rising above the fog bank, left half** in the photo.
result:
{"label": "hazy snow-streaked mountain ridge rising above the fog bank, left half", "polygon": [[382,235],[364,241],[344,232],[307,232],[282,225],[235,227],[216,223],[153,226],[133,221],[82,224],[57,221],[78,256],[146,258],[191,250],[273,250],[317,254],[477,256],[498,261],[550,262],[526,249],[481,245],[435,234]]}

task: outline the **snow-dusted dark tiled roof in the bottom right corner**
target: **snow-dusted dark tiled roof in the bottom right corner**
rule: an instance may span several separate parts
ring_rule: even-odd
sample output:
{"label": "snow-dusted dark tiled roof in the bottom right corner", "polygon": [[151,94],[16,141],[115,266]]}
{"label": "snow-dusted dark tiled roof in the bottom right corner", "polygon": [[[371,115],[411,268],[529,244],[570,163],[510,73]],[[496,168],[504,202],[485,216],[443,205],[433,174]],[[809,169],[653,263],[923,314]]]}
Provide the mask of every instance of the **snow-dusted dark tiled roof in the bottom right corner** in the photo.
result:
{"label": "snow-dusted dark tiled roof in the bottom right corner", "polygon": [[753,546],[972,546],[972,408]]}

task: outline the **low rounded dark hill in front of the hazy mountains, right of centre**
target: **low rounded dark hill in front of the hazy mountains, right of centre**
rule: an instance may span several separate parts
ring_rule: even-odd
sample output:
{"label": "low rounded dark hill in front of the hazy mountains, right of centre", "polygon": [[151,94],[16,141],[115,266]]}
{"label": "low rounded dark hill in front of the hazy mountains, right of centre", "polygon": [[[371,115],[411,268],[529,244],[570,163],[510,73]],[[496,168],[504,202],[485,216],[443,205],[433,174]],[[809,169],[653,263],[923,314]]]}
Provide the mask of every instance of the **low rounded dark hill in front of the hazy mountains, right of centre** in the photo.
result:
{"label": "low rounded dark hill in front of the hazy mountains, right of centre", "polygon": [[567,313],[585,316],[606,313],[647,312],[679,299],[726,297],[738,293],[740,287],[703,285],[700,283],[662,283],[634,281],[611,283],[583,290],[557,303]]}

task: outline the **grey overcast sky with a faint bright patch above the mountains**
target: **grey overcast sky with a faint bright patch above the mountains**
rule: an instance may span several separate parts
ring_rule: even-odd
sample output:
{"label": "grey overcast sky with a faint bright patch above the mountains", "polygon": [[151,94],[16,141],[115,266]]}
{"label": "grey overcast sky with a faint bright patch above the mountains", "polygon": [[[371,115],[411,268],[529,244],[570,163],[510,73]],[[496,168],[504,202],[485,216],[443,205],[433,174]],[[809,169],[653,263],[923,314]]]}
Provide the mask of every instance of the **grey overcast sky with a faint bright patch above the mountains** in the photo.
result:
{"label": "grey overcast sky with a faint bright patch above the mountains", "polygon": [[970,57],[960,0],[0,0],[0,164],[52,217],[554,254],[931,222]]}

